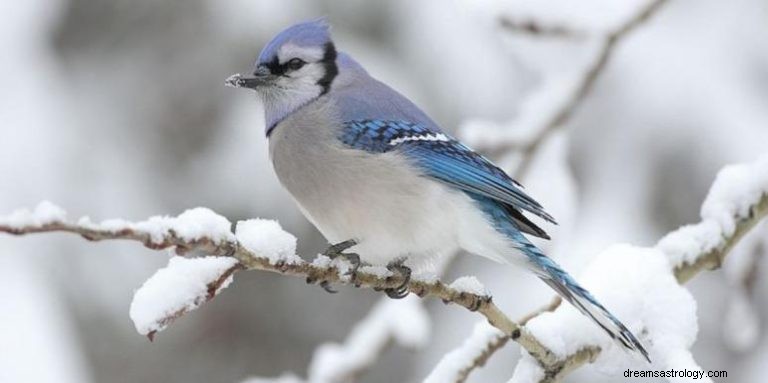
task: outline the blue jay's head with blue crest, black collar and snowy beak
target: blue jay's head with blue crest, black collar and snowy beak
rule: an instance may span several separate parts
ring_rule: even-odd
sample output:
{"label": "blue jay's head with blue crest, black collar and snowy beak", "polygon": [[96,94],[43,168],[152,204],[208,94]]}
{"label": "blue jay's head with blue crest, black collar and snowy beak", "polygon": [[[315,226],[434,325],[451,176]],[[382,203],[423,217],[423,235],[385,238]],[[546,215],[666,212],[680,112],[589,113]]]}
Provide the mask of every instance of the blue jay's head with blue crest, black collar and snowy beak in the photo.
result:
{"label": "blue jay's head with blue crest, black collar and snowy beak", "polygon": [[328,23],[317,19],[278,33],[259,54],[253,76],[236,74],[226,84],[255,90],[271,129],[287,114],[327,93],[338,72]]}

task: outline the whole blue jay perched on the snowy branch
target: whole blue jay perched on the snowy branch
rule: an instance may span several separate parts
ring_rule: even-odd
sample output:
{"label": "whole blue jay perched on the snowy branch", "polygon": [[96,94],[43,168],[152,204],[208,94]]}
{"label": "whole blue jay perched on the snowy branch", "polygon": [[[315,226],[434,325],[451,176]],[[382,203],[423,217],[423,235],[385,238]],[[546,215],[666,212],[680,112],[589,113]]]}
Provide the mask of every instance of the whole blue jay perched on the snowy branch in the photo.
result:
{"label": "whole blue jay perched on the snowy branch", "polygon": [[403,260],[417,264],[456,249],[522,265],[648,359],[616,317],[524,236],[549,239],[523,215],[554,223],[542,206],[338,52],[324,20],[280,32],[259,54],[252,77],[234,75],[227,84],[259,95],[275,172],[336,244],[329,254],[354,246],[359,260],[403,273]]}

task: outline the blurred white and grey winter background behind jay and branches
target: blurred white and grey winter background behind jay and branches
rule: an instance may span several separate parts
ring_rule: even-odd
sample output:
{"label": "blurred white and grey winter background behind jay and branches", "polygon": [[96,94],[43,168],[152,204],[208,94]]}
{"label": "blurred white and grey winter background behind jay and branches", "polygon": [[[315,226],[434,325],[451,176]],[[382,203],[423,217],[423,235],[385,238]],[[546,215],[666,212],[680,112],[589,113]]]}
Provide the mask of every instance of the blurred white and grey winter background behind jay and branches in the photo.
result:
{"label": "blurred white and grey winter background behind jay and branches", "polygon": [[[326,15],[341,50],[446,130],[524,129],[508,122],[533,108],[526,100],[542,84],[583,66],[593,47],[510,32],[499,18],[600,30],[641,1],[497,3],[2,2],[0,211],[49,199],[76,216],[138,220],[206,206],[232,220],[278,219],[299,238],[300,254],[317,253],[325,241],[269,165],[255,96],[223,80],[247,72],[280,29]],[[767,40],[764,1],[671,0],[617,47],[523,180],[560,222],[546,227],[554,258],[578,275],[610,244],[653,245],[698,221],[723,165],[767,151]],[[756,232],[723,271],[688,285],[698,303],[694,355],[705,369],[727,370],[730,382],[763,381],[768,364],[759,241],[768,234]],[[0,382],[305,376],[314,350],[343,341],[380,298],[240,273],[150,343],[127,312],[134,290],[166,263],[165,253],[134,243],[0,236]],[[750,283],[744,270],[754,271]],[[552,296],[535,278],[476,257],[459,257],[447,271],[449,279],[467,274],[513,318]],[[477,321],[439,301],[426,307],[431,326],[415,335],[425,342],[386,349],[360,381],[421,381]],[[506,381],[518,357],[510,344],[470,381]],[[590,369],[569,379],[624,380]]]}

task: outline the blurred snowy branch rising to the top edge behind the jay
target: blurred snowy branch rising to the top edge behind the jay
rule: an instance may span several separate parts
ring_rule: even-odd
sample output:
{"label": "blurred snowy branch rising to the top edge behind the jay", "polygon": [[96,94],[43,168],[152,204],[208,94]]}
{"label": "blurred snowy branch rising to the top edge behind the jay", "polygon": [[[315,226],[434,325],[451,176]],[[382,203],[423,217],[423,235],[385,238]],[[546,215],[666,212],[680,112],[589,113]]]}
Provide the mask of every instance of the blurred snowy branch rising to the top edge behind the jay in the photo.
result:
{"label": "blurred snowy branch rising to the top edge behind the jay", "polygon": [[[539,147],[563,126],[589,95],[604,71],[618,44],[649,20],[667,0],[649,0],[620,25],[597,38],[598,47],[592,59],[573,73],[545,79],[522,106],[520,116],[507,124],[496,126],[487,121],[470,121],[460,133],[476,150],[498,157],[509,152],[519,154],[516,178],[523,178]],[[577,36],[578,32],[565,27],[542,27],[535,22],[515,22],[503,18],[502,26],[512,32],[536,35]]]}

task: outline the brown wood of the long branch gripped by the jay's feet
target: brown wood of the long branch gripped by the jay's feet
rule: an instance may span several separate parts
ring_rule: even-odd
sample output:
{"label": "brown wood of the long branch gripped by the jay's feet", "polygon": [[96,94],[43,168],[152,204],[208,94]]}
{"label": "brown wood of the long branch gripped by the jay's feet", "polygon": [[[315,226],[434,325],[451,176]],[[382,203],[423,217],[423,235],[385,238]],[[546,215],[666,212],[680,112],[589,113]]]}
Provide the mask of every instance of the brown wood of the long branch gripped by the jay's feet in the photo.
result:
{"label": "brown wood of the long branch gripped by the jay's feet", "polygon": [[[220,218],[223,219],[223,217]],[[120,221],[121,224],[119,225],[112,224],[102,227],[89,221],[83,223],[81,220],[79,223],[74,223],[61,219],[61,217],[47,222],[33,222],[21,225],[5,221],[0,217],[0,232],[14,235],[66,232],[77,234],[89,241],[130,240],[140,242],[145,247],[153,250],[174,249],[178,255],[199,252],[213,256],[234,257],[238,260],[240,267],[234,269],[233,272],[241,269],[261,270],[300,277],[312,282],[350,283],[349,275],[345,275],[347,267],[342,268],[337,262],[323,264],[323,262],[309,263],[303,260],[275,261],[274,257],[271,258],[268,255],[251,251],[237,239],[221,238],[220,235],[217,237],[210,235],[190,237],[189,235],[179,235],[178,229],[174,227],[170,227],[160,233],[138,229],[142,227],[144,222],[130,223]],[[151,222],[151,220],[145,222]],[[372,272],[366,272],[364,269],[359,271],[355,278],[356,286],[374,290],[395,288],[402,285],[403,282],[402,276],[381,276]],[[453,303],[470,311],[476,311],[483,315],[492,326],[519,343],[537,359],[545,363],[554,363],[556,361],[555,355],[518,323],[507,317],[493,303],[490,295],[461,291],[439,280],[411,279],[407,284],[407,288],[409,292],[419,297],[439,298],[445,303]]]}

